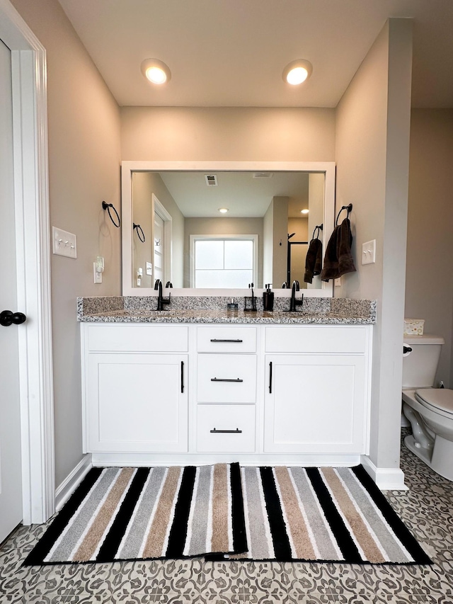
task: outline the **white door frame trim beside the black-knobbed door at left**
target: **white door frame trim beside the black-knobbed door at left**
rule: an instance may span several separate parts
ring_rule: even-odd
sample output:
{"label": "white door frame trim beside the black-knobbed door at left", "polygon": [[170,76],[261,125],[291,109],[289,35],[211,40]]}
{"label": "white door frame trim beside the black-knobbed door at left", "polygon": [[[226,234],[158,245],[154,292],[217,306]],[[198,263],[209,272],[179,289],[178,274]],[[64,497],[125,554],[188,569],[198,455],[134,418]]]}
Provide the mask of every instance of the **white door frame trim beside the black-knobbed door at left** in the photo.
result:
{"label": "white door frame trim beside the black-knobbed door at left", "polygon": [[[23,523],[55,512],[46,52],[8,0],[0,38],[11,50]],[[14,309],[16,310],[16,309]]]}

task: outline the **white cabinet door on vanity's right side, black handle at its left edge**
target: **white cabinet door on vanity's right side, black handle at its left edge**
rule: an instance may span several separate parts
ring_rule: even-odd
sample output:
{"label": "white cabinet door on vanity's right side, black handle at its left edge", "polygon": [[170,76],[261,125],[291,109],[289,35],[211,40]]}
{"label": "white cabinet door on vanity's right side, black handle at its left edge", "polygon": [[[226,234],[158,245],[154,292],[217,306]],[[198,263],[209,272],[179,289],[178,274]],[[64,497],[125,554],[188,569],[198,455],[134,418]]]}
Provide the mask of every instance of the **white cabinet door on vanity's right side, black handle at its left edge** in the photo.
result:
{"label": "white cabinet door on vanity's right side, black handle at its left edge", "polygon": [[365,452],[365,357],[268,355],[266,375],[266,452]]}

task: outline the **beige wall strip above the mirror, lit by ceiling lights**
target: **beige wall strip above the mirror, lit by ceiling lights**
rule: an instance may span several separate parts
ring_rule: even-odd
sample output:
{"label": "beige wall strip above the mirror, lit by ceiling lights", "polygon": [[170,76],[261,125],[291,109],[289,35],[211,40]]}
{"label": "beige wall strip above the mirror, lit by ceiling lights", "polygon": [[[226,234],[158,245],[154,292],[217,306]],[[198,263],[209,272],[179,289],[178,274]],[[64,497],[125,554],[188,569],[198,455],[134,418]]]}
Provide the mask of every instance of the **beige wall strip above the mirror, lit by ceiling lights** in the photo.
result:
{"label": "beige wall strip above the mirror, lit by ceiling lights", "polygon": [[335,110],[123,107],[121,156],[167,161],[335,161]]}

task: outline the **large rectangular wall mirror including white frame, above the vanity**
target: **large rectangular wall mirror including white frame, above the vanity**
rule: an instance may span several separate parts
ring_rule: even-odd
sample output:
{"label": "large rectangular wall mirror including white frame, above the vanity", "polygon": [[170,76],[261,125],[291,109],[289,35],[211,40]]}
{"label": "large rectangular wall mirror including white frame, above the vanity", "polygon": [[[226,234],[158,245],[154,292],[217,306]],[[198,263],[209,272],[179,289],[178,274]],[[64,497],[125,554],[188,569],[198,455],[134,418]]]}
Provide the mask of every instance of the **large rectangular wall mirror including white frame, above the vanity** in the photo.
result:
{"label": "large rectangular wall mirror including white frame, above the vanity", "polygon": [[181,295],[293,280],[332,295],[304,268],[314,233],[323,247],[331,235],[334,178],[333,162],[122,162],[123,295],[150,295],[156,279]]}

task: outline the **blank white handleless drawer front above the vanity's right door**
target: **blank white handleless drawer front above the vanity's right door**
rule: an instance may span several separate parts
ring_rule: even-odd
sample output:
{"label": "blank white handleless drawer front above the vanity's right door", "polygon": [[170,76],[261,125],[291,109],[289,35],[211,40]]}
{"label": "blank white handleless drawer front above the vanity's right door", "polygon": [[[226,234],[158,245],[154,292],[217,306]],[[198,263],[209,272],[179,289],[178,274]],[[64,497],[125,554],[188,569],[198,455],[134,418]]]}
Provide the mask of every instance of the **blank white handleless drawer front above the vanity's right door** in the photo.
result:
{"label": "blank white handleless drawer front above the vanity's right door", "polygon": [[304,325],[265,328],[267,353],[364,353],[367,329],[361,325]]}

